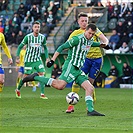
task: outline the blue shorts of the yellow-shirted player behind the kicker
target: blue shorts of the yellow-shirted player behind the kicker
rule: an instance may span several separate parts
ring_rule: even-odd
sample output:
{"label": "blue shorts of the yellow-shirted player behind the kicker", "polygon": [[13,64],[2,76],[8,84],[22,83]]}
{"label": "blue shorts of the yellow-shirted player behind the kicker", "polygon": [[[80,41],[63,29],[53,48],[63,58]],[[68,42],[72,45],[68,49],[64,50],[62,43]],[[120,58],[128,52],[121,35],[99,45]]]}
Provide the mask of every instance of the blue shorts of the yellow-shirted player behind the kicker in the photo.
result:
{"label": "blue shorts of the yellow-shirted player behind the kicker", "polygon": [[103,58],[85,59],[85,63],[81,70],[92,79],[96,79],[103,64]]}

